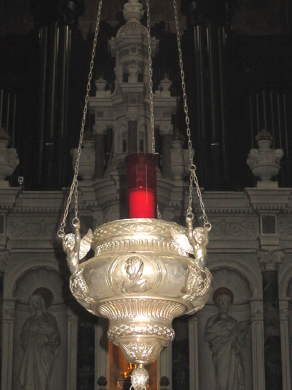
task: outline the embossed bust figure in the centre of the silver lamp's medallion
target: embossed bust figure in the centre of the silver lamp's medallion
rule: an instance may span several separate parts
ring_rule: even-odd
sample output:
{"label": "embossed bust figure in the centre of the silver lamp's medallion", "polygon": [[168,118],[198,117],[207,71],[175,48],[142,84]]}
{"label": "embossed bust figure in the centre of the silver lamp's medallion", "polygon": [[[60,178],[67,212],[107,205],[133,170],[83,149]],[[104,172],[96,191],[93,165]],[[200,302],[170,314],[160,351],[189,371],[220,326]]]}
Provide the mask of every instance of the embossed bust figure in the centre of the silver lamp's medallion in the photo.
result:
{"label": "embossed bust figure in the centre of the silver lamp's medallion", "polygon": [[138,256],[128,257],[125,262],[127,277],[120,284],[121,292],[146,292],[150,285],[143,277],[144,262]]}

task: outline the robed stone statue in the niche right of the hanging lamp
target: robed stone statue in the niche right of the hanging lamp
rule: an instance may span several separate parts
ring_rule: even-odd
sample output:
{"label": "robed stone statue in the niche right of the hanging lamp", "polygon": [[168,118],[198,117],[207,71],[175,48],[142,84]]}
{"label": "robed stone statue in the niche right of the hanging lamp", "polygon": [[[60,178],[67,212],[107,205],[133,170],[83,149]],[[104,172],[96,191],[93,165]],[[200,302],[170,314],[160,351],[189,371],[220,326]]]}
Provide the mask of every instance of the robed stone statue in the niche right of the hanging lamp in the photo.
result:
{"label": "robed stone statue in the niche right of the hanging lamp", "polygon": [[237,322],[229,316],[234,295],[221,287],[213,294],[219,313],[207,320],[204,341],[209,342],[216,374],[216,390],[244,390],[244,361],[241,351],[246,344],[249,320]]}

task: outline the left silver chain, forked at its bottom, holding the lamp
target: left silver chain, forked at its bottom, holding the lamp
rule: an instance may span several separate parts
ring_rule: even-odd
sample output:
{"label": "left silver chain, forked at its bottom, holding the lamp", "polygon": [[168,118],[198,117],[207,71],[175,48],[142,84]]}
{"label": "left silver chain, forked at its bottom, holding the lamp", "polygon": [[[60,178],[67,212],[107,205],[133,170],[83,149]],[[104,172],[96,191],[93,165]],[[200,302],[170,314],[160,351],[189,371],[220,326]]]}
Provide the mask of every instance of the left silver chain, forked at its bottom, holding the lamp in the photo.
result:
{"label": "left silver chain, forked at its bottom, holding the lamp", "polygon": [[89,67],[89,73],[88,73],[88,83],[86,86],[85,104],[84,104],[84,108],[83,108],[83,118],[81,121],[80,138],[79,138],[79,144],[78,144],[76,163],[75,163],[75,167],[74,167],[73,182],[71,184],[70,193],[69,193],[69,196],[67,199],[66,210],[64,212],[63,221],[61,222],[60,229],[58,230],[58,233],[57,233],[58,237],[63,237],[63,235],[65,234],[66,219],[68,216],[69,207],[71,205],[73,193],[74,193],[74,210],[75,210],[75,217],[73,219],[73,222],[79,221],[79,219],[78,219],[78,170],[79,170],[79,163],[80,163],[81,148],[82,148],[82,143],[83,143],[86,113],[87,113],[87,109],[88,109],[89,92],[90,92],[90,87],[91,87],[90,81],[91,81],[91,78],[93,77],[95,48],[96,48],[96,43],[98,41],[98,30],[99,30],[99,25],[100,25],[100,14],[101,14],[101,7],[102,6],[103,6],[103,0],[100,0],[100,2],[98,4],[98,17],[96,20],[95,34],[94,34],[94,39],[93,39],[93,50],[91,52],[91,61],[90,61],[90,67]]}

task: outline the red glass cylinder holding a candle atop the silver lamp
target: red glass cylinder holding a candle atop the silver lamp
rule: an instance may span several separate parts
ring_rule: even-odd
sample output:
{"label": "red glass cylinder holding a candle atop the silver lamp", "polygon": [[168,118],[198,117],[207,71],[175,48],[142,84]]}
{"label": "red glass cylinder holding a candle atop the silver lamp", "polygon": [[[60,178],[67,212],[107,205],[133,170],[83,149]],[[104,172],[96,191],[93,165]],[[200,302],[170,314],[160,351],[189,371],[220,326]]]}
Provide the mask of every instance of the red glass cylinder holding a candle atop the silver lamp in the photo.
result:
{"label": "red glass cylinder holding a candle atop the silver lamp", "polygon": [[125,158],[130,218],[155,218],[156,156],[132,153]]}

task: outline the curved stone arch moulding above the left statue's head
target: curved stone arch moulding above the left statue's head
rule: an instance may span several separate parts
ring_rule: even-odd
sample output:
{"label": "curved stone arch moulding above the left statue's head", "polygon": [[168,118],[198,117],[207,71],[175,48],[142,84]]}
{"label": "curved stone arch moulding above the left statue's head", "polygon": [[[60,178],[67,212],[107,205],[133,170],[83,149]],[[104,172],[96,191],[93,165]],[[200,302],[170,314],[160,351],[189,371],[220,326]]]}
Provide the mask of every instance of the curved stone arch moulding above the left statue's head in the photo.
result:
{"label": "curved stone arch moulding above the left statue's head", "polygon": [[7,273],[7,277],[4,282],[4,298],[5,297],[13,297],[14,296],[14,290],[16,289],[17,282],[21,277],[26,274],[29,270],[32,270],[33,268],[43,268],[46,267],[48,269],[51,269],[57,273],[60,272],[58,264],[55,260],[46,260],[46,262],[43,261],[43,259],[26,259],[24,262],[20,262],[19,265],[14,267],[13,272]]}

